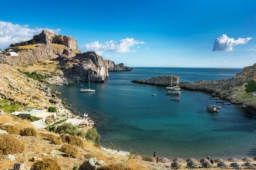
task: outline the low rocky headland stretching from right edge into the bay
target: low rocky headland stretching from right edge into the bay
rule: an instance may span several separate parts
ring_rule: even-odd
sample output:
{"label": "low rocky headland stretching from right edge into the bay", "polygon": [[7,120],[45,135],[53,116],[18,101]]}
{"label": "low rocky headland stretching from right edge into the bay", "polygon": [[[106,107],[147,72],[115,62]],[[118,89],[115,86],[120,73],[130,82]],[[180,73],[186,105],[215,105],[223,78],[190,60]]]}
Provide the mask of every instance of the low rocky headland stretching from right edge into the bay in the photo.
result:
{"label": "low rocky headland stretching from right edge into the bay", "polygon": [[[150,79],[132,80],[135,83],[168,86],[171,85],[172,76],[158,76]],[[256,80],[256,63],[252,66],[243,68],[242,72],[237,73],[236,77],[220,79],[216,81],[198,80],[197,82],[180,82],[181,88],[190,90],[203,90],[212,92],[212,96],[227,99],[233,104],[241,105],[243,108],[256,107],[256,97],[246,94],[244,91],[245,83],[249,80]],[[173,76],[173,85],[176,85],[177,76]]]}

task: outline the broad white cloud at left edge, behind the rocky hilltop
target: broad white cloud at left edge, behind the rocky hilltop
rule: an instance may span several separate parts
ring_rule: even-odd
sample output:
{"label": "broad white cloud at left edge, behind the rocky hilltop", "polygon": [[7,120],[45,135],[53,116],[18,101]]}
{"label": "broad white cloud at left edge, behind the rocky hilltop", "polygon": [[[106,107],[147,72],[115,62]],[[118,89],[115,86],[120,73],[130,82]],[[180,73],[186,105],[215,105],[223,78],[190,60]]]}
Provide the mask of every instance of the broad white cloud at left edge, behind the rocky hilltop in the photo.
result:
{"label": "broad white cloud at left edge, behind the rocky hilltop", "polygon": [[0,48],[8,48],[10,44],[32,39],[33,35],[39,34],[43,29],[51,30],[56,34],[61,31],[60,29],[29,28],[28,25],[0,21]]}

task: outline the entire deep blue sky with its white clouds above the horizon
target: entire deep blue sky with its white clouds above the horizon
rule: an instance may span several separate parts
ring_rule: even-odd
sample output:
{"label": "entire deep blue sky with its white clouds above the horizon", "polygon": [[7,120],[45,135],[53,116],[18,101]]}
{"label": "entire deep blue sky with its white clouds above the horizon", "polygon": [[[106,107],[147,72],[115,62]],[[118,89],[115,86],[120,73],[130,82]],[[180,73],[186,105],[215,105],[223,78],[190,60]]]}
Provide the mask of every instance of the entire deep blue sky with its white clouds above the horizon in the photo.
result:
{"label": "entire deep blue sky with its white clouds above the horizon", "polygon": [[256,63],[255,0],[12,0],[0,48],[42,29],[131,67],[243,68]]}

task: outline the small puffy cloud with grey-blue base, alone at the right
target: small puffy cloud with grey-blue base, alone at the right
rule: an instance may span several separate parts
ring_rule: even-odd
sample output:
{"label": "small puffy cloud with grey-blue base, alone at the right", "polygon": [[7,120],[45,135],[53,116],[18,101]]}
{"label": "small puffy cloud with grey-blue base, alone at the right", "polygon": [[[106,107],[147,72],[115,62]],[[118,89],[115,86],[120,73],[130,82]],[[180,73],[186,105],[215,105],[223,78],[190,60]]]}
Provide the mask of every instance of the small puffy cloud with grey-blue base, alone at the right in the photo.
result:
{"label": "small puffy cloud with grey-blue base, alone at the right", "polygon": [[239,44],[246,44],[252,38],[238,38],[234,40],[233,38],[227,37],[227,35],[223,34],[218,37],[213,43],[212,51],[232,51],[233,47]]}

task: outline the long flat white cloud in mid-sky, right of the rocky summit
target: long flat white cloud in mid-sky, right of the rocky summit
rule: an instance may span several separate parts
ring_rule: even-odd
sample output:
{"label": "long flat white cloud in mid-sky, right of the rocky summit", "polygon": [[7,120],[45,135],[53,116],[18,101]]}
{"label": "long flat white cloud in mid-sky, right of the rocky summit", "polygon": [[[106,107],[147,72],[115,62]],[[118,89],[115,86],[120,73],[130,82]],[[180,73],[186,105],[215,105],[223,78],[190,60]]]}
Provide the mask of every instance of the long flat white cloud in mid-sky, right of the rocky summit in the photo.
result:
{"label": "long flat white cloud in mid-sky, right of the rocky summit", "polygon": [[90,42],[86,45],[82,45],[82,48],[86,48],[91,51],[110,51],[110,52],[119,52],[119,53],[127,53],[127,52],[136,52],[135,50],[131,50],[131,46],[135,44],[144,44],[145,42],[140,42],[138,40],[134,40],[133,38],[126,38],[120,41],[107,41],[102,44],[99,41]]}

